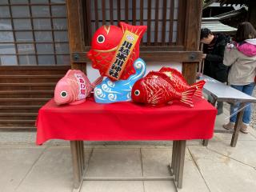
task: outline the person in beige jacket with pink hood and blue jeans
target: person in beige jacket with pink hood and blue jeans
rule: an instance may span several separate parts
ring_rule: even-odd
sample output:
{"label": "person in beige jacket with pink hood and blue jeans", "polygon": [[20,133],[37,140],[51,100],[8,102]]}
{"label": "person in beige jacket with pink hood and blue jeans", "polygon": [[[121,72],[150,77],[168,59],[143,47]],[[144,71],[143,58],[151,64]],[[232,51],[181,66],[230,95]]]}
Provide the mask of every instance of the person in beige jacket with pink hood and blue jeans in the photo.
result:
{"label": "person in beige jacket with pink hood and blue jeans", "polygon": [[[240,90],[245,94],[252,95],[256,75],[256,30],[250,22],[242,22],[238,25],[235,42],[226,46],[224,52],[224,65],[231,66],[228,75],[228,83],[234,89]],[[223,127],[226,130],[234,129],[238,105],[230,106],[230,122]],[[251,118],[251,106],[246,106],[242,117],[242,133],[247,134]]]}

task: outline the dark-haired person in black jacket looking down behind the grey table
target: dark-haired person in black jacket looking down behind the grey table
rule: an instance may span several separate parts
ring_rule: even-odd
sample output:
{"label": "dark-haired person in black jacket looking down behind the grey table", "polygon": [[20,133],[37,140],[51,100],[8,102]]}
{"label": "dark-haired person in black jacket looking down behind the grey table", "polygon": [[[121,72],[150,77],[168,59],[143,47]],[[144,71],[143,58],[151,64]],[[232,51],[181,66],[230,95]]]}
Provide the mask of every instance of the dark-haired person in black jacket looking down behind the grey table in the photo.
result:
{"label": "dark-haired person in black jacket looking down behind the grey table", "polygon": [[[226,47],[226,36],[223,34],[213,34],[209,29],[203,28],[200,36],[203,46],[203,56],[205,65],[203,74],[226,82],[228,67],[223,64],[224,51]],[[217,104],[218,114],[223,113],[223,102]]]}

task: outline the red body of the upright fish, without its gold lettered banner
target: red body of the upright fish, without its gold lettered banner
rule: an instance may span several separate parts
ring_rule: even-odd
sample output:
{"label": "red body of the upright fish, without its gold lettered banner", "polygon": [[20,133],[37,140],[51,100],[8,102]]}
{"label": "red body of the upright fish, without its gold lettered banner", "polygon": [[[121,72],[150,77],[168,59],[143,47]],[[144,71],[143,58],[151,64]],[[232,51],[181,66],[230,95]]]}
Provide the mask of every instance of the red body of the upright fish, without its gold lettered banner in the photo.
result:
{"label": "red body of the upright fish, without its gold lettered banner", "polygon": [[[130,26],[125,22],[120,22],[119,26],[101,26],[94,33],[91,42],[91,50],[87,56],[92,61],[94,69],[98,69],[102,76],[107,76],[106,73],[112,64],[112,60],[118,50],[119,43],[122,40],[126,30],[138,35],[138,41],[134,46],[129,61],[126,63],[125,69],[122,71],[120,79],[126,80],[131,74],[135,74],[133,63],[139,56],[139,43],[142,35],[146,31],[146,26]],[[109,77],[109,76],[108,76]],[[111,77],[109,77],[111,78]],[[112,79],[111,80],[116,80]]]}

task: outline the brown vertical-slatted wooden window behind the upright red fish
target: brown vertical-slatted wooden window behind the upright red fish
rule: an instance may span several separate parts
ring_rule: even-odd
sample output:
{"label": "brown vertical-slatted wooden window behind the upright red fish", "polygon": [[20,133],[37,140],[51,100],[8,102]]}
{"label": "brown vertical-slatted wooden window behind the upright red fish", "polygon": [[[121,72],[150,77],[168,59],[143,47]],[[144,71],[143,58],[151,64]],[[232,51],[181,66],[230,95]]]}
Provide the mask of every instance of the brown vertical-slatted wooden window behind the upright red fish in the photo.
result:
{"label": "brown vertical-slatted wooden window behind the upright red fish", "polygon": [[[87,24],[84,25],[85,46],[90,46],[88,35],[94,34],[99,26],[118,25],[120,21],[132,25],[148,26],[141,46],[175,45],[176,39],[173,39],[173,36],[176,37],[177,34],[175,25],[178,18],[174,14],[178,13],[176,6],[178,3],[174,2],[178,2],[178,0],[84,0],[82,8],[85,12],[84,18],[86,18],[84,22]],[[183,11],[181,12],[183,13]],[[87,20],[87,18],[90,19]],[[184,21],[183,14],[180,14],[179,19]],[[182,25],[180,28],[182,30]]]}

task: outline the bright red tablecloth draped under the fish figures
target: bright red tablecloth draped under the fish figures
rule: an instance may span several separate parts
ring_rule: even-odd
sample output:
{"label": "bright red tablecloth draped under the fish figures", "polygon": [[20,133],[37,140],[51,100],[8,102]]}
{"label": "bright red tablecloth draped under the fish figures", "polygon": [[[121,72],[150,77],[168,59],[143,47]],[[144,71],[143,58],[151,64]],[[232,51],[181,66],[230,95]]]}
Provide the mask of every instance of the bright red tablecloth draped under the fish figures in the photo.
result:
{"label": "bright red tablecloth draped under the fish figures", "polygon": [[37,144],[49,139],[84,141],[188,140],[213,136],[217,110],[194,98],[194,108],[140,106],[134,102],[77,106],[47,102],[38,112]]}

